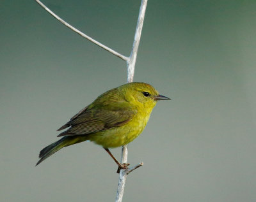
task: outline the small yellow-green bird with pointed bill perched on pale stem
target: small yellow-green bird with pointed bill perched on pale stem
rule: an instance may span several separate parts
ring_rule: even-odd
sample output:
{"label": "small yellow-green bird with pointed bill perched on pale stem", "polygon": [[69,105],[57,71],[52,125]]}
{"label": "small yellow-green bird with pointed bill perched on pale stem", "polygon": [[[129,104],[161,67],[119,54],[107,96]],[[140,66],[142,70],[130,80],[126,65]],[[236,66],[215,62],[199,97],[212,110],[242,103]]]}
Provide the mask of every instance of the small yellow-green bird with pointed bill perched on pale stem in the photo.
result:
{"label": "small yellow-green bird with pointed bill perched on pale stem", "polygon": [[102,145],[119,168],[125,169],[127,164],[120,164],[108,148],[121,147],[137,138],[157,101],[168,99],[147,83],[127,83],[108,90],[58,129],[69,127],[58,135],[63,138],[40,151],[36,165],[63,147],[90,140]]}

